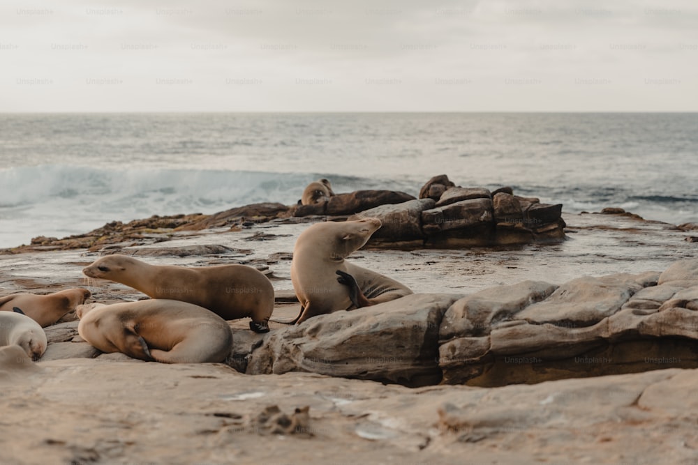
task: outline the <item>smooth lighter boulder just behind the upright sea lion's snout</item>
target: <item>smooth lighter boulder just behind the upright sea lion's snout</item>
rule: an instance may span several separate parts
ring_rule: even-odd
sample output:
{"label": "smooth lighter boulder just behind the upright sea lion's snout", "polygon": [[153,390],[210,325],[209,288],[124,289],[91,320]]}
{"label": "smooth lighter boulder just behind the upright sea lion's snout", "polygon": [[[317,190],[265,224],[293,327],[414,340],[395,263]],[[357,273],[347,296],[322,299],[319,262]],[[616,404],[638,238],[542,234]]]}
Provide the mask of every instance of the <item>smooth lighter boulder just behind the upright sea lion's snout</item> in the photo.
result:
{"label": "smooth lighter boulder just behind the upright sea lion's snout", "polygon": [[432,199],[414,199],[402,204],[381,205],[353,215],[349,220],[360,218],[378,218],[380,229],[373,233],[371,239],[385,238],[389,241],[411,241],[424,238],[422,233],[422,211],[433,208]]}

